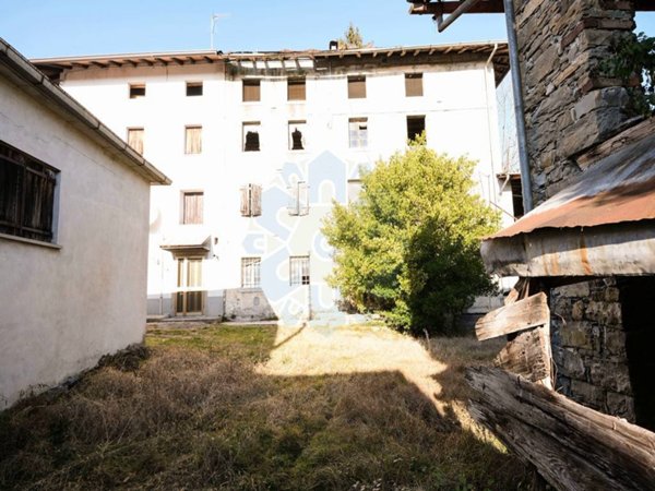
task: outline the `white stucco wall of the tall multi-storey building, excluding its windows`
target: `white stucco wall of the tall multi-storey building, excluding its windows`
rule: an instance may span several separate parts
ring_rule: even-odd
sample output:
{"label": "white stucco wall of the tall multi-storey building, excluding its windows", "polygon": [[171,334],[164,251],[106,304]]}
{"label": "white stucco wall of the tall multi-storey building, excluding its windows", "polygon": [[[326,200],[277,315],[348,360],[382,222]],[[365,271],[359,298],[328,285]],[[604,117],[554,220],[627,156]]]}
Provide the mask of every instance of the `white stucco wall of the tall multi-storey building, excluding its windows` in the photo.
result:
{"label": "white stucco wall of the tall multi-storey building, excluding its windows", "polygon": [[[479,161],[475,181],[487,200],[511,213],[511,192],[500,192],[501,171],[492,68],[485,61],[451,65],[350,69],[366,74],[367,97],[348,99],[347,70],[307,74],[307,99],[287,101],[286,79],[264,76],[261,101],[242,103],[241,77],[226,75],[221,63],[136,67],[68,72],[62,87],[118,134],[145,129],[144,155],[174,181],[154,189],[151,205],[148,313],[170,314],[177,268],[163,242],[190,229],[211,237],[203,262],[205,314],[218,312],[222,292],[240,288],[242,256],[262,258],[262,289],[281,318],[312,315],[336,308],[337,294],[325,283],[332,268],[330,249],[320,233],[332,200],[347,201],[347,181],[359,166],[403,149],[406,117],[425,115],[428,145]],[[424,73],[424,96],[406,97],[405,72]],[[203,82],[203,95],[187,97],[187,81]],[[145,83],[146,95],[130,99],[130,83]],[[368,147],[348,147],[348,118],[368,118]],[[307,120],[305,151],[289,151],[289,120]],[[260,121],[261,152],[242,152],[241,124]],[[184,125],[201,124],[202,153],[184,155]],[[295,179],[310,185],[310,211],[289,216],[287,187]],[[239,188],[263,188],[262,216],[242,217]],[[204,224],[180,225],[182,191],[204,192]],[[508,215],[504,216],[508,219]],[[215,241],[214,241],[215,239]],[[291,287],[289,255],[310,255],[311,291]],[[212,302],[212,299],[214,301]],[[227,298],[226,298],[227,300]],[[234,302],[227,302],[234,304]],[[230,310],[230,315],[233,311]]]}

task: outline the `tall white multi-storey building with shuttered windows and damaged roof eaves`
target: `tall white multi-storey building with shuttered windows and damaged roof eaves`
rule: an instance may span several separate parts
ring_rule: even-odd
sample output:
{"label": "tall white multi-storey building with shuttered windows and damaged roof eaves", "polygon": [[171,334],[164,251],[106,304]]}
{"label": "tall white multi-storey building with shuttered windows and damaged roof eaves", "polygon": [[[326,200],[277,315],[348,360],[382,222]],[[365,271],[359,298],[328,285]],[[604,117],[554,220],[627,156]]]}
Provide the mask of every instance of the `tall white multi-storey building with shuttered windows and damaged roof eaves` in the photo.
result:
{"label": "tall white multi-storey building with shuttered windows and damaged roof eaves", "polygon": [[333,201],[357,200],[361,169],[422,131],[478,160],[477,192],[513,213],[496,110],[504,44],[36,64],[172,179],[152,192],[150,315],[336,312],[321,221]]}

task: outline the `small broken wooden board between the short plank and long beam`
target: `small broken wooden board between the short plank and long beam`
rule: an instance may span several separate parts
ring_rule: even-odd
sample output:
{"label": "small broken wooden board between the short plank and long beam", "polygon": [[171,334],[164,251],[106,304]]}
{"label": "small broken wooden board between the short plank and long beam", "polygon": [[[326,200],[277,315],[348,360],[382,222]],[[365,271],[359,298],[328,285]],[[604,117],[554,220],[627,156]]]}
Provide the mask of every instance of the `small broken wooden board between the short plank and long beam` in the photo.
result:
{"label": "small broken wooden board between the short plank and long beam", "polygon": [[534,327],[520,333],[502,348],[493,362],[531,382],[550,379],[550,339],[547,327]]}

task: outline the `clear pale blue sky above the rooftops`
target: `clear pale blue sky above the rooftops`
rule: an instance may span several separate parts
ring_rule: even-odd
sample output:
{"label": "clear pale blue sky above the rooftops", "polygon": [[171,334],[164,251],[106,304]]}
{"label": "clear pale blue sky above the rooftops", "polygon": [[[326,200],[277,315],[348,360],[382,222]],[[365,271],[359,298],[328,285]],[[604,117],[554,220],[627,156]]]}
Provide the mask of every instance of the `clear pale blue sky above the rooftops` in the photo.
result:
{"label": "clear pale blue sky above the rooftops", "polygon": [[[505,38],[503,15],[466,15],[439,34],[404,0],[0,0],[0,37],[28,58],[210,48],[224,51],[326,48],[349,22],[376,46]],[[655,36],[655,14],[638,29]]]}

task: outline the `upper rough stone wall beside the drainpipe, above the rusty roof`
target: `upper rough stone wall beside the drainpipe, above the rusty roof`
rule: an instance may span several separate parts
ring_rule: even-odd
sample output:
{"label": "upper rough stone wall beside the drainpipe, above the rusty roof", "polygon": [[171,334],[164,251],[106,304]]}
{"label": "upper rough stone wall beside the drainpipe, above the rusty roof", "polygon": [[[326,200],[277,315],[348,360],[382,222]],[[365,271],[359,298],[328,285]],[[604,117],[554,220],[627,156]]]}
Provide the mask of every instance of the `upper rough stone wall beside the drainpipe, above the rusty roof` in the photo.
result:
{"label": "upper rough stone wall beside the drainpipe, above the rusty roof", "polygon": [[514,0],[527,151],[536,204],[585,170],[575,156],[630,119],[621,81],[598,76],[612,39],[630,36],[626,0]]}

